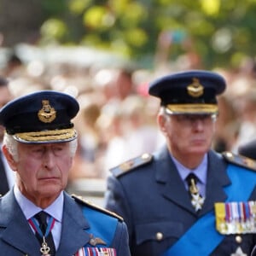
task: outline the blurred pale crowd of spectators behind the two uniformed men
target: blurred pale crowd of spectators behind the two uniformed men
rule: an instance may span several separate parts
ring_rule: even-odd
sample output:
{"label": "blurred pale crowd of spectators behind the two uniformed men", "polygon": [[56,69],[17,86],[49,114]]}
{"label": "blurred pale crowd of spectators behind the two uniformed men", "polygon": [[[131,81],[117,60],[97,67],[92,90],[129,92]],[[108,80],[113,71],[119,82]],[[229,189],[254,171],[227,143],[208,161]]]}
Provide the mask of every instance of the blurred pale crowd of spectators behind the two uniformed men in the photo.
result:
{"label": "blurred pale crowd of spectators behind the two uniformed men", "polygon": [[[185,58],[186,57],[186,58]],[[9,79],[13,96],[35,90],[58,90],[75,96],[80,103],[74,120],[79,132],[70,182],[79,178],[105,179],[109,169],[143,153],[152,153],[164,139],[156,126],[158,99],[148,96],[148,83],[160,75],[184,69],[200,69],[191,53],[154,70],[127,63],[80,65],[36,58],[23,61],[10,55],[0,75]],[[159,62],[160,63],[160,62]],[[236,70],[216,68],[227,81],[218,98],[219,116],[212,148],[237,152],[238,146],[256,138],[256,65],[244,60]]]}

